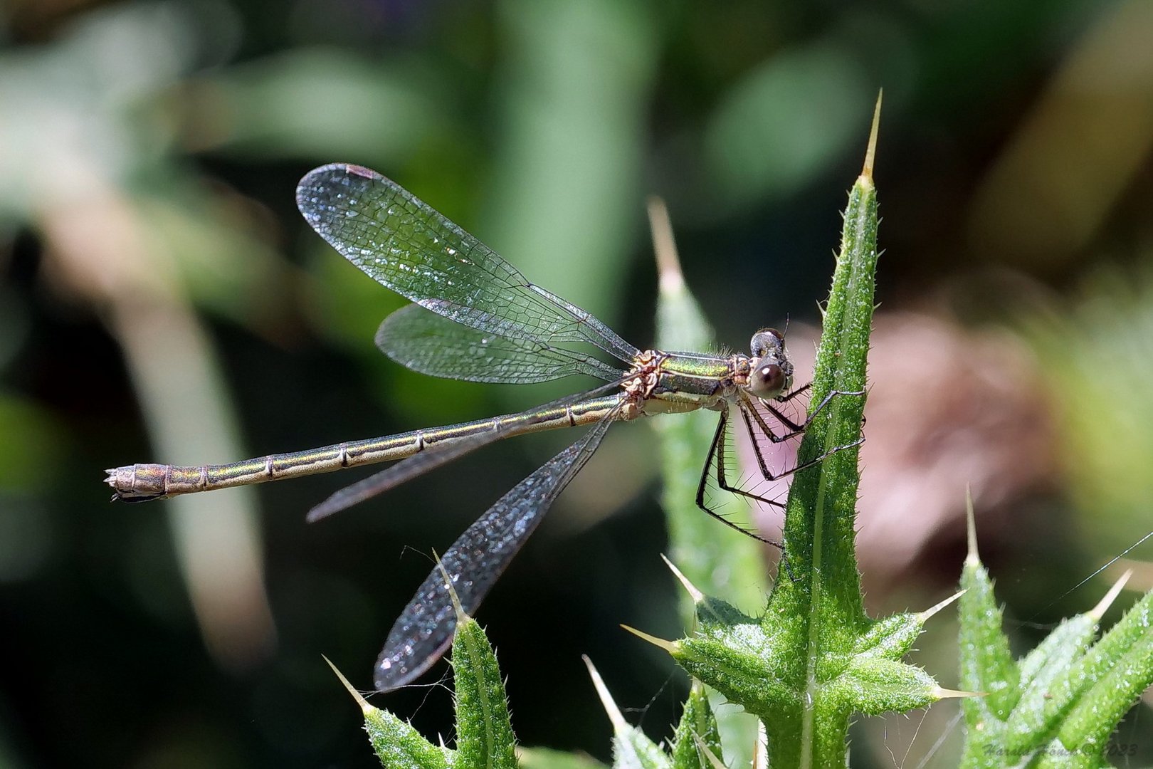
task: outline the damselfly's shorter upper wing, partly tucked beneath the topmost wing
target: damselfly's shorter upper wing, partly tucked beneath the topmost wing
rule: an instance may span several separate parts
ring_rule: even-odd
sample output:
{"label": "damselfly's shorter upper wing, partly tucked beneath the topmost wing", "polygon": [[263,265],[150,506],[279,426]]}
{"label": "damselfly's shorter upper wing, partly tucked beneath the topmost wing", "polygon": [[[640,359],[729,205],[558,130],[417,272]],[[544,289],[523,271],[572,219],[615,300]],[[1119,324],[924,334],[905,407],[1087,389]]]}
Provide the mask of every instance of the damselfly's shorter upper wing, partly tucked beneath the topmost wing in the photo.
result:
{"label": "damselfly's shorter upper wing, partly tucked beneath the topmost wing", "polygon": [[449,379],[529,384],[572,374],[612,382],[624,375],[591,355],[532,339],[462,326],[419,304],[402,307],[380,324],[376,346],[397,363]]}

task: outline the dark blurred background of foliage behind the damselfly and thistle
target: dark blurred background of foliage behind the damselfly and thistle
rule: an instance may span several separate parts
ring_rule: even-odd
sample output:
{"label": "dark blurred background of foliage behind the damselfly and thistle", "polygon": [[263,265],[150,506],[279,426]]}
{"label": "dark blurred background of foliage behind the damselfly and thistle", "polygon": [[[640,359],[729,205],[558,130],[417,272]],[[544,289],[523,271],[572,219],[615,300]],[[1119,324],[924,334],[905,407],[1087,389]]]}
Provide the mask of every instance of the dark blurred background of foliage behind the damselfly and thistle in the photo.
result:
{"label": "dark blurred background of foliage behind the damselfly and thistle", "polygon": [[[804,359],[883,86],[869,609],[954,590],[966,483],[1022,651],[1153,528],[1153,5],[14,0],[0,30],[0,767],[376,766],[321,655],[369,688],[430,550],[573,438],[315,526],[355,472],[107,503],[106,467],[579,386],[380,355],[402,301],[293,204],[322,163],[392,176],[640,346],[661,195],[717,344],[787,321]],[[480,613],[527,745],[608,757],[581,654],[651,737],[677,717],[684,676],[618,627],[681,632],[654,445],[613,429]],[[1151,550],[1124,556],[1137,589]],[[942,615],[915,657],[944,686],[955,639]],[[445,671],[374,702],[451,740]],[[854,766],[954,766],[956,711],[861,719]],[[1137,763],[1148,723],[1118,734]]]}

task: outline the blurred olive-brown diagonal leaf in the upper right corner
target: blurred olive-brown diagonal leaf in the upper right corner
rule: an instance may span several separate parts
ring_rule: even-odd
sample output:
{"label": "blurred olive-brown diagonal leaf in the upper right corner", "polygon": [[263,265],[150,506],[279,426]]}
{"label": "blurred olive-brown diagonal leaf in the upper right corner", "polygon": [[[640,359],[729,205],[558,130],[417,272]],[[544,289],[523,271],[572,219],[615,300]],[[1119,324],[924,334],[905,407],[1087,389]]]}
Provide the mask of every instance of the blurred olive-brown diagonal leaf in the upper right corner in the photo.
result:
{"label": "blurred olive-brown diagonal leaf in the upper right corner", "polygon": [[[1099,17],[1077,25],[1070,51],[973,196],[977,254],[1045,270],[1082,257],[1148,163],[1153,5],[1097,6]],[[984,29],[973,36],[984,37]],[[1004,67],[1001,56],[996,62]]]}

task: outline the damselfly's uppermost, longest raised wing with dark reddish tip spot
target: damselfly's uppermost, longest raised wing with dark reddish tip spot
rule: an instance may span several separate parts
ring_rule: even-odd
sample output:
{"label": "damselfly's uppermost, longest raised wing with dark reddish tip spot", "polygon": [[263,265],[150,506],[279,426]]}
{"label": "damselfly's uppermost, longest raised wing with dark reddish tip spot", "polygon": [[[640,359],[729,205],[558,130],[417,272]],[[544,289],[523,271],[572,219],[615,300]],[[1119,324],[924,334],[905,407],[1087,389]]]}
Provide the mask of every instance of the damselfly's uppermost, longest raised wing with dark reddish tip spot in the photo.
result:
{"label": "damselfly's uppermost, longest raised wing with dark reddish tip spot", "polygon": [[638,349],[375,171],[332,164],[296,188],[304,219],[378,282],[466,326],[541,344],[583,341],[630,362]]}

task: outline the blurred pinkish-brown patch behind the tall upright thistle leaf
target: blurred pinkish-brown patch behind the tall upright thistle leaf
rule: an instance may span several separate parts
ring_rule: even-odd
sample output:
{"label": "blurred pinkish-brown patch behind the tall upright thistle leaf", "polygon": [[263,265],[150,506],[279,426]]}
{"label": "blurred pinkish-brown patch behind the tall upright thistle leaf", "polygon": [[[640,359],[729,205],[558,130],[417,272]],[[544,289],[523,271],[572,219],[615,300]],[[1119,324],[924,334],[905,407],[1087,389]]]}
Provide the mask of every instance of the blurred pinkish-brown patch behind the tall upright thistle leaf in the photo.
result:
{"label": "blurred pinkish-brown patch behind the tall upright thistle leaf", "polygon": [[[790,329],[798,371],[813,370],[815,345],[816,330]],[[866,594],[879,601],[912,574],[928,589],[956,582],[966,485],[982,541],[996,541],[1019,525],[1019,504],[1053,488],[1057,459],[1046,389],[1028,349],[1010,337],[879,312],[869,382],[857,556]],[[769,536],[781,515],[759,513]]]}

